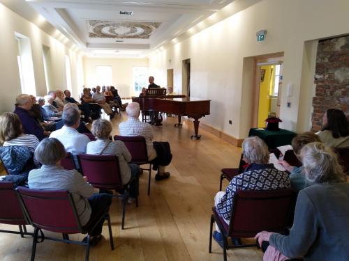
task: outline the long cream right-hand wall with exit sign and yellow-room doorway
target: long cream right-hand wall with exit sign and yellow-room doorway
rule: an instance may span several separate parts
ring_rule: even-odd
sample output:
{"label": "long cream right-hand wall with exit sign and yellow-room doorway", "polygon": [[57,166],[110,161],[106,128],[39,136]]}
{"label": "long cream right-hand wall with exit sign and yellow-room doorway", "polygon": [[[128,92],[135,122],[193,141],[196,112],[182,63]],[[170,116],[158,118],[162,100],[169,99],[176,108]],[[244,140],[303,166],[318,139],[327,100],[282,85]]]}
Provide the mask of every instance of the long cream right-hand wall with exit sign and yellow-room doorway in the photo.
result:
{"label": "long cream right-hand wall with exit sign and yellow-room doorway", "polygon": [[[211,115],[202,122],[242,139],[250,126],[248,108],[252,104],[247,97],[251,97],[248,95],[253,82],[243,79],[244,74],[248,75],[243,74],[243,68],[251,70],[251,64],[243,66],[244,58],[284,52],[283,86],[294,87],[292,97],[282,92],[281,127],[303,132],[309,130],[312,95],[304,88],[313,88],[309,79],[314,71],[304,59],[313,57],[316,50],[315,44],[305,47],[304,43],[349,33],[348,13],[348,0],[263,0],[191,38],[154,52],[149,56],[149,70],[158,79],[157,84],[165,85],[166,70],[173,68],[174,91],[181,93],[181,61],[191,58],[191,95],[211,100]],[[255,33],[260,29],[267,29],[264,42],[256,40]],[[287,100],[290,108],[286,107]]]}

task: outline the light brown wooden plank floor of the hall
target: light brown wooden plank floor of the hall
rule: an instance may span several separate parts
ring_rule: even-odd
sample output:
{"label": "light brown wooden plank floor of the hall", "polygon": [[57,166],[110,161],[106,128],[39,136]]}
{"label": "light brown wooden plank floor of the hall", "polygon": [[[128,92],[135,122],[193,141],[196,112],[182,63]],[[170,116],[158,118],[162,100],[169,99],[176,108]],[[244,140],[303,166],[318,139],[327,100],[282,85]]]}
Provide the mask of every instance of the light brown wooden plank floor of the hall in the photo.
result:
{"label": "light brown wooden plank floor of the hall", "polygon": [[[112,134],[118,133],[119,122],[126,119],[126,114],[122,114],[112,120]],[[144,171],[140,177],[139,207],[127,206],[125,230],[121,230],[121,201],[113,200],[110,213],[116,248],[110,251],[107,226],[104,226],[105,239],[91,248],[89,260],[223,260],[223,250],[216,242],[213,253],[208,253],[209,217],[219,188],[220,169],[237,167],[241,149],[204,130],[200,130],[201,140],[191,140],[192,123],[184,122],[178,129],[175,122],[176,118],[167,118],[162,127],[154,127],[156,141],[170,142],[171,177],[156,182],[153,172],[151,194],[147,196],[148,172]],[[3,228],[17,229],[1,225],[0,229]],[[83,237],[70,236],[78,240]],[[0,234],[0,260],[30,260],[30,255],[31,237]],[[84,260],[84,247],[45,241],[37,246],[36,260]],[[257,248],[229,250],[228,260],[262,260],[262,252]]]}

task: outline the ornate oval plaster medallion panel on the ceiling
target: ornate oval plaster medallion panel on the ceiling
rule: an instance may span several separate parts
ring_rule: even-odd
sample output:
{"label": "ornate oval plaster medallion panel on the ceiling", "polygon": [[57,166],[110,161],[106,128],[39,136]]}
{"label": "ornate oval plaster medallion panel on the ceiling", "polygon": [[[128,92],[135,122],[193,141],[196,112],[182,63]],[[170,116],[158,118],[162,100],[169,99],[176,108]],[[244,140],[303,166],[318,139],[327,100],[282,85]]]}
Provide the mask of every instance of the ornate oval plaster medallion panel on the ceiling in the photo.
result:
{"label": "ornate oval plaster medallion panel on the ceiling", "polygon": [[89,37],[149,39],[151,33],[154,33],[160,24],[160,22],[112,22],[89,20]]}

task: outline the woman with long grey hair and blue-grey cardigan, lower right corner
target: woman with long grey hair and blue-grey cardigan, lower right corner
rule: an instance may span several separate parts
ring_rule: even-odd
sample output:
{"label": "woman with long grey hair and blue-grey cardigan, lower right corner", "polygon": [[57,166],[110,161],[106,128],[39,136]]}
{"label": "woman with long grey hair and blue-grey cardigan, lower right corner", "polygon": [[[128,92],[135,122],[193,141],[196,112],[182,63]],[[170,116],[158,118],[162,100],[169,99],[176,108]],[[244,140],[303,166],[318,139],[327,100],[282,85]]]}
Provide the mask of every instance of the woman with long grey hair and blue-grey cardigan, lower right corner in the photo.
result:
{"label": "woman with long grey hair and blue-grey cardigan, lower right corner", "polygon": [[[290,234],[259,232],[255,239],[267,252],[283,260],[349,260],[349,183],[337,156],[326,145],[314,142],[302,148],[306,180],[312,185],[299,191]],[[280,252],[280,253],[279,253]]]}

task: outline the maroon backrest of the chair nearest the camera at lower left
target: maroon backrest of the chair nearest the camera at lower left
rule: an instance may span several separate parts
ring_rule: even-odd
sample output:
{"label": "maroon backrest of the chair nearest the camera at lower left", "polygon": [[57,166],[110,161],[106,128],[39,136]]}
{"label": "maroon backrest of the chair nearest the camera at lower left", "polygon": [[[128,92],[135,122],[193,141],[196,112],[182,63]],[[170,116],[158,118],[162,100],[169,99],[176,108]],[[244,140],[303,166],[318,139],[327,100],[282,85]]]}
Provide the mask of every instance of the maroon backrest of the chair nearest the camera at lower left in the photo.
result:
{"label": "maroon backrest of the chair nearest the camera at lower left", "polygon": [[17,188],[25,214],[35,228],[73,234],[82,231],[68,191]]}

